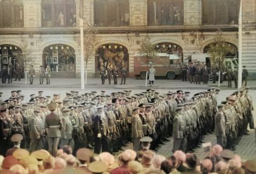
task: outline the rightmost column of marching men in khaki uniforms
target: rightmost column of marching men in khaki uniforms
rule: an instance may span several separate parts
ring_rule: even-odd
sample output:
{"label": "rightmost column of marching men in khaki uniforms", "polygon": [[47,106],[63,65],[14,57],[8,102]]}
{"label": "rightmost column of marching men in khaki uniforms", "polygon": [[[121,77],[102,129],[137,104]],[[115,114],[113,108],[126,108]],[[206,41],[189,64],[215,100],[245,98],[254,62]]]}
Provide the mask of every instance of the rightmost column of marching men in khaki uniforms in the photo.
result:
{"label": "rightmost column of marching men in khaki uniforms", "polygon": [[217,144],[226,149],[235,149],[241,135],[249,135],[249,130],[254,129],[254,110],[250,87],[240,88],[225,101],[218,105],[219,111],[215,115],[215,135]]}

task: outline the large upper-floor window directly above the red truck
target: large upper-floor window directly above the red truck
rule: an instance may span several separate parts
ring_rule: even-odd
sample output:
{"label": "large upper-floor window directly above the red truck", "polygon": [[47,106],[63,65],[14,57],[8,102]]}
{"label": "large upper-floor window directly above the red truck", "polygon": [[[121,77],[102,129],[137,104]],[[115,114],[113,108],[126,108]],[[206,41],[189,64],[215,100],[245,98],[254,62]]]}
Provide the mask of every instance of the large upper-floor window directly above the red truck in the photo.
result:
{"label": "large upper-floor window directly above the red truck", "polygon": [[149,0],[147,7],[149,25],[184,24],[183,0]]}

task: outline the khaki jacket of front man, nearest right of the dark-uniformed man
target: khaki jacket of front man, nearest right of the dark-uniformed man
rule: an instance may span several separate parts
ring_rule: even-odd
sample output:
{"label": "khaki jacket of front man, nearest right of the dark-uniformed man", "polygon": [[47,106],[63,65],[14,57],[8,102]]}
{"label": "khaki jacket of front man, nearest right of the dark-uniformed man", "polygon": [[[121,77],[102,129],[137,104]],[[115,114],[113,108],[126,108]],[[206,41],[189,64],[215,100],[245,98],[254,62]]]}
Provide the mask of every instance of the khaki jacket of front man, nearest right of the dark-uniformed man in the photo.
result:
{"label": "khaki jacket of front man, nearest right of the dark-uniformed man", "polygon": [[140,139],[144,137],[142,132],[142,121],[138,114],[132,114],[132,138]]}

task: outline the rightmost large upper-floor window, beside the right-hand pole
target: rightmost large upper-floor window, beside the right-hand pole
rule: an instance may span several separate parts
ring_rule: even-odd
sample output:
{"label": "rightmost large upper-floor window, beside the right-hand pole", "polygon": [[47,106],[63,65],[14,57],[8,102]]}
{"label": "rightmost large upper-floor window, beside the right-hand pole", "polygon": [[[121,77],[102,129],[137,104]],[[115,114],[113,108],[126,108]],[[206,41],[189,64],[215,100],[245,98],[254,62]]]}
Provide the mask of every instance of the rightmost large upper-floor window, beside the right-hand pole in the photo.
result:
{"label": "rightmost large upper-floor window, beside the right-hand pole", "polygon": [[238,24],[239,0],[203,0],[202,24],[230,25]]}

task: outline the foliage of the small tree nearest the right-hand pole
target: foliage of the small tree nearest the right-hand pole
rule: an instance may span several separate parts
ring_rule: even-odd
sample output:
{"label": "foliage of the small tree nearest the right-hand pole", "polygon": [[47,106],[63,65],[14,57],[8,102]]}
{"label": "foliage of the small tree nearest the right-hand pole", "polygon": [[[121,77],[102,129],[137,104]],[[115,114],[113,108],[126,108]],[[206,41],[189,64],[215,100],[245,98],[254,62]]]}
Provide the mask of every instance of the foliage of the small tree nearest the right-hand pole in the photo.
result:
{"label": "foliage of the small tree nearest the right-hand pole", "polygon": [[209,45],[209,53],[213,60],[213,65],[219,70],[224,69],[224,60],[227,53],[230,52],[230,44],[224,41],[222,31],[218,30],[217,35],[214,38],[214,43]]}

